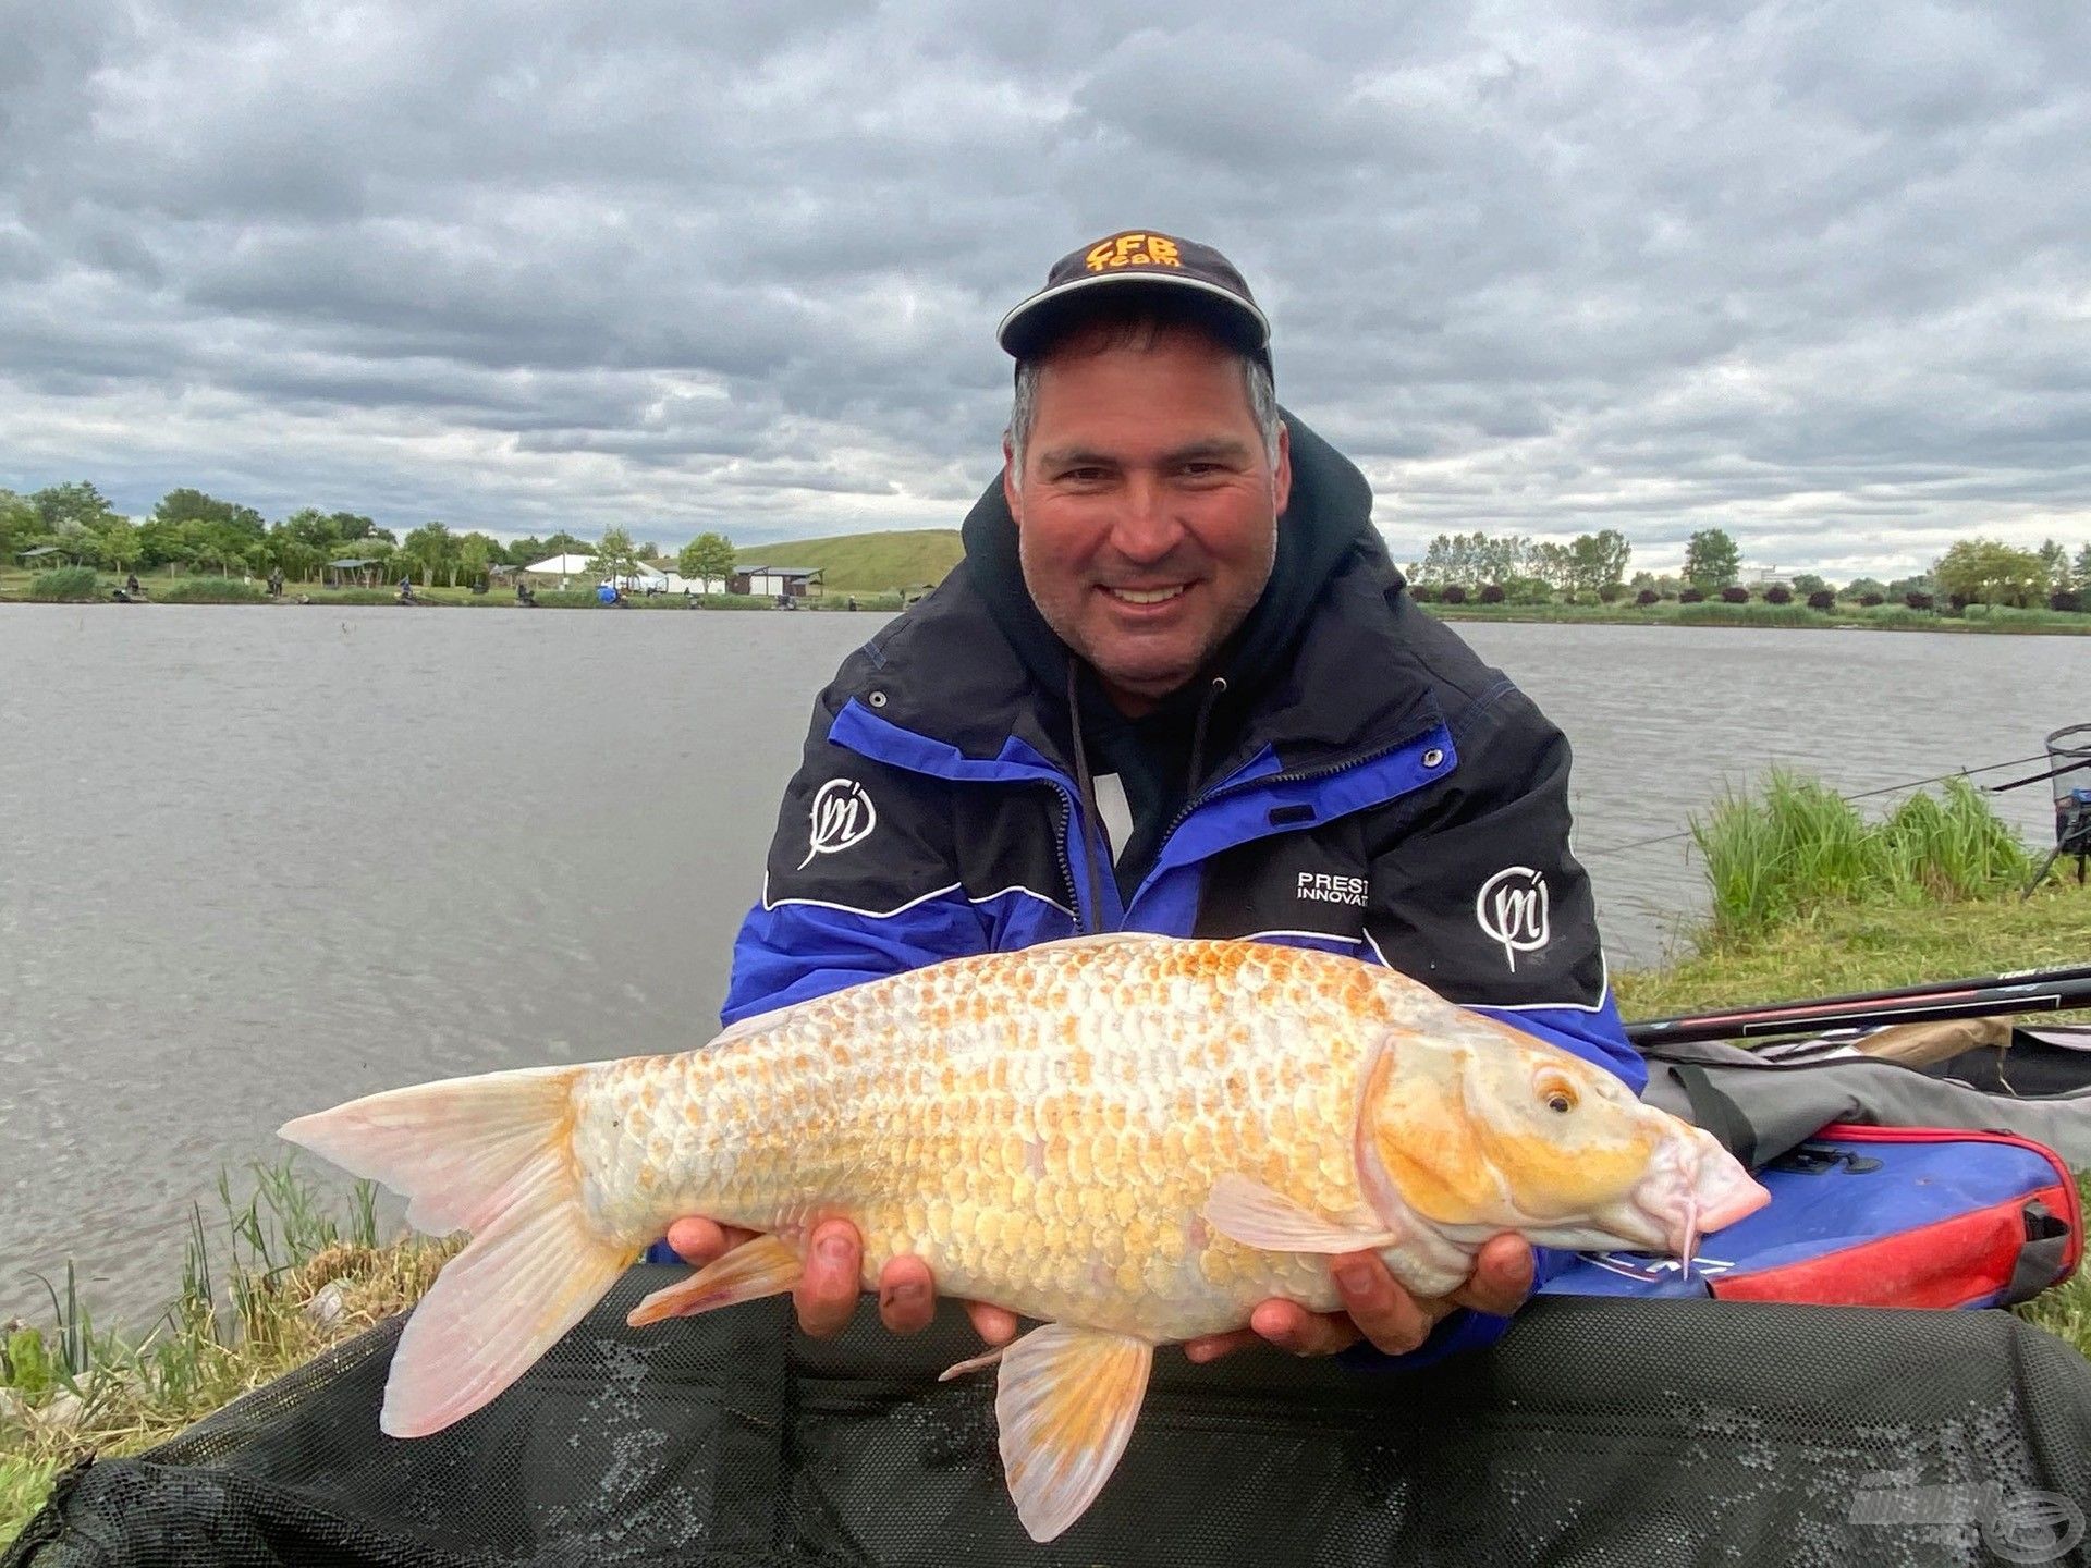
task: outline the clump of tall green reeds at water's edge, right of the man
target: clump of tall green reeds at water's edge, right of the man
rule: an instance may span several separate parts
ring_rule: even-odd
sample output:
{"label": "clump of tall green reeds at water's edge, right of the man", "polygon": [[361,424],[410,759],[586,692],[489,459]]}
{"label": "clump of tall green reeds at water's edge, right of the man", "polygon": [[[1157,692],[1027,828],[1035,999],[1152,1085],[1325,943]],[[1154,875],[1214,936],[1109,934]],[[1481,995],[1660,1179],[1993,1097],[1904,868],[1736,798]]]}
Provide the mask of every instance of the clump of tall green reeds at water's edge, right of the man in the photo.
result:
{"label": "clump of tall green reeds at water's edge, right of the man", "polygon": [[1775,769],[1756,794],[1727,792],[1692,817],[1692,840],[1713,895],[1708,937],[1725,945],[1823,905],[1978,899],[2032,870],[2018,834],[1966,780],[1867,822],[1821,780]]}

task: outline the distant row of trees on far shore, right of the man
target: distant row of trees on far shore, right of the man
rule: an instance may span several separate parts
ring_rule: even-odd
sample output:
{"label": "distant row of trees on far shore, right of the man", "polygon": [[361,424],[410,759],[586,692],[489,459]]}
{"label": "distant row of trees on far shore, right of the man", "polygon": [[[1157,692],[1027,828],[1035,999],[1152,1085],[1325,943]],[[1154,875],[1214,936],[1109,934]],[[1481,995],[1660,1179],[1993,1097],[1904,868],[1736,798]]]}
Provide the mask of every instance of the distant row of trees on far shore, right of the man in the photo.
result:
{"label": "distant row of trees on far shore, right of the man", "polygon": [[[1583,533],[1568,544],[1531,539],[1522,533],[1441,533],[1422,560],[1409,562],[1409,581],[1422,596],[1480,596],[1491,602],[1545,604],[1560,598],[1577,604],[1598,598],[1606,604],[1635,594],[1641,602],[1662,598],[1733,596],[1742,583],[1742,548],[1725,529],[1700,529],[1685,541],[1685,564],[1677,575],[1648,571],[1627,577],[1633,546],[1614,531]],[[1819,573],[1794,573],[1771,592],[1809,600],[1915,602],[1947,598],[1955,604],[2009,604],[2058,610],[2091,600],[2091,544],[2074,558],[2055,539],[2039,550],[2018,550],[1997,539],[1957,539],[1930,571],[1894,581],[1855,577],[1832,583]]]}

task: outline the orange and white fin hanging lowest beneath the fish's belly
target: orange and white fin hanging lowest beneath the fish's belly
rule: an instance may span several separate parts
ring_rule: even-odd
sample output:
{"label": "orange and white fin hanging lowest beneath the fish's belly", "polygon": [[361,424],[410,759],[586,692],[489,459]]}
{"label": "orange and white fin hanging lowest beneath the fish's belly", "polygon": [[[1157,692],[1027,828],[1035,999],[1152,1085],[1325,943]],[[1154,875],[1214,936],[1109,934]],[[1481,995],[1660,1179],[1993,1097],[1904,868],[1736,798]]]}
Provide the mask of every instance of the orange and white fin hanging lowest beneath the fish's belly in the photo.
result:
{"label": "orange and white fin hanging lowest beneath the fish's belly", "polygon": [[1133,1434],[1154,1346],[1048,1323],[1002,1353],[995,1420],[1016,1518],[1052,1541],[1096,1501]]}

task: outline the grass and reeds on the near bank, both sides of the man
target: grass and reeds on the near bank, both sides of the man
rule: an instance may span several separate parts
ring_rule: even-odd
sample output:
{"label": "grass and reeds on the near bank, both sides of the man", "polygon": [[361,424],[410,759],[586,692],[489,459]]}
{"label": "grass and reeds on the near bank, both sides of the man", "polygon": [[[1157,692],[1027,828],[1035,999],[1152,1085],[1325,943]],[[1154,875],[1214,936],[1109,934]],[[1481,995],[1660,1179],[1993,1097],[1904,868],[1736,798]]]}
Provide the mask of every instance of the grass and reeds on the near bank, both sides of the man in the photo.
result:
{"label": "grass and reeds on the near bank, both sides of the man", "polygon": [[[2028,851],[1970,786],[1913,794],[1867,820],[1828,786],[1773,774],[1692,824],[1713,916],[1692,949],[1614,976],[1633,1016],[2043,968],[2091,951],[2091,889],[2049,876],[2030,899]],[[142,1336],[102,1328],[73,1265],[46,1279],[50,1319],[0,1336],[0,1547],[84,1453],[148,1449],[232,1399],[412,1307],[458,1240],[378,1236],[370,1183],[337,1219],[293,1162],[220,1177],[197,1208],[171,1305]],[[2078,1173],[2085,1181],[2085,1173]],[[213,1273],[213,1259],[215,1265]],[[2091,1279],[2016,1309],[2091,1355]]]}

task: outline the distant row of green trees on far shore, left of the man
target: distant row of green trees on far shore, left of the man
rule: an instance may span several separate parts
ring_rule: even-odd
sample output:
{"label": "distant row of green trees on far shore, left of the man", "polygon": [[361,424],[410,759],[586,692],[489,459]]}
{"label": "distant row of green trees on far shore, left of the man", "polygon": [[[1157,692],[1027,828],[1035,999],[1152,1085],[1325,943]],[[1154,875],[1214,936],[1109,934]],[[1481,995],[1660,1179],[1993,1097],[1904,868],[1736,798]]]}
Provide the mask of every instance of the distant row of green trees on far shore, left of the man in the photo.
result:
{"label": "distant row of green trees on far shore, left of the man", "polygon": [[[548,556],[585,556],[600,577],[629,575],[644,562],[665,562],[652,541],[636,544],[625,529],[600,539],[554,533],[502,544],[491,533],[454,533],[443,523],[422,523],[399,537],[360,512],[322,512],[305,506],[270,523],[255,508],[169,489],[144,518],[117,512],[86,481],[48,485],[29,495],[0,489],[0,562],[15,564],[27,550],[50,546],[67,562],[109,571],[171,567],[192,573],[282,571],[316,581],[330,560],[368,560],[385,581],[414,577],[422,585],[475,583],[493,567],[527,567]],[[734,571],[734,544],[723,533],[700,533],[673,556],[684,577],[726,581]]]}

